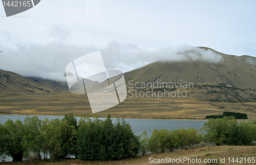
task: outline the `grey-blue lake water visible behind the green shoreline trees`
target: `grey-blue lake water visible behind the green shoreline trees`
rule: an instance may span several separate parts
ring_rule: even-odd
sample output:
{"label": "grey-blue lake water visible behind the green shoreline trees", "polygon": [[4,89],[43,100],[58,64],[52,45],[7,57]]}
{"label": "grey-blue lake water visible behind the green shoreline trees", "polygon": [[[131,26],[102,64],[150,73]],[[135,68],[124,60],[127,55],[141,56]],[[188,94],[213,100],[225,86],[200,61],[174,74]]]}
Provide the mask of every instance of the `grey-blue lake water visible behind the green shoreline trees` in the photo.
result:
{"label": "grey-blue lake water visible behind the green shoreline trees", "polygon": [[[8,119],[16,121],[17,119],[20,121],[24,121],[25,117],[33,117],[33,115],[0,115],[0,123],[4,124]],[[51,119],[62,119],[63,116],[42,116],[38,115],[38,119],[45,120],[48,118]],[[77,121],[79,121],[80,117],[76,117]],[[99,118],[100,120],[105,120],[105,118]],[[116,119],[113,119],[115,122]],[[141,135],[143,131],[147,132],[148,136],[151,136],[154,129],[166,129],[166,130],[176,130],[180,128],[188,129],[193,127],[197,130],[204,126],[204,123],[207,121],[182,121],[182,120],[150,120],[150,119],[125,119],[127,123],[129,123],[134,131],[134,134]]]}

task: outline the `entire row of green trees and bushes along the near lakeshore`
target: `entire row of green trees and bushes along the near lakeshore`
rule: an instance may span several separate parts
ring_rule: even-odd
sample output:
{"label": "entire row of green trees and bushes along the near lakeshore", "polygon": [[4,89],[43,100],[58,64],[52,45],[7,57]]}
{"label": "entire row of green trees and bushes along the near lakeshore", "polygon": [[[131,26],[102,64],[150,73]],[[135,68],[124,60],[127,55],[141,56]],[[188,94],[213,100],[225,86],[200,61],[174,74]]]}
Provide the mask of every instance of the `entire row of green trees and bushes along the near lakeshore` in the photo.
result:
{"label": "entire row of green trees and bushes along the near lakeshore", "polygon": [[209,119],[200,129],[168,131],[155,129],[148,137],[144,131],[136,136],[124,120],[81,117],[73,113],[60,119],[39,120],[36,116],[8,120],[0,124],[0,156],[13,161],[23,159],[58,159],[74,156],[82,160],[117,160],[146,153],[172,152],[201,142],[216,145],[253,145],[256,121],[238,123],[233,116]]}

